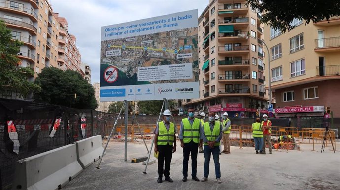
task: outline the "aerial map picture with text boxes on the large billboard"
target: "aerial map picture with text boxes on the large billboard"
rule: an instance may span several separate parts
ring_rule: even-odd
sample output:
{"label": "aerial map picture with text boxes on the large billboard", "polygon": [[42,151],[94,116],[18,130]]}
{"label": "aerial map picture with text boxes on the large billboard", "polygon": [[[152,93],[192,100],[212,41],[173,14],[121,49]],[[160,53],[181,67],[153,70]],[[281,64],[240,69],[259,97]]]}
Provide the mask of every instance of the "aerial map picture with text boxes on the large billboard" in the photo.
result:
{"label": "aerial map picture with text boxes on the large billboard", "polygon": [[198,81],[197,43],[196,27],[101,41],[101,86]]}

